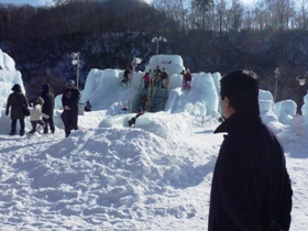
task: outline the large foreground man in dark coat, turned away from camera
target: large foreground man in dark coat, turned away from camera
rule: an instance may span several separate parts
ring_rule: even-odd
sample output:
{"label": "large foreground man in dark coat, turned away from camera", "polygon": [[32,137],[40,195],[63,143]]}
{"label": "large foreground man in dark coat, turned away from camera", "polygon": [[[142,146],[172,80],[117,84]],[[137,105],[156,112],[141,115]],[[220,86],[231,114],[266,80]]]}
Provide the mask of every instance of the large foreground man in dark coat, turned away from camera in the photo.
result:
{"label": "large foreground man in dark coat, turned away from camera", "polygon": [[217,158],[209,231],[289,230],[292,186],[283,147],[262,122],[256,75],[237,70],[221,80],[224,132]]}

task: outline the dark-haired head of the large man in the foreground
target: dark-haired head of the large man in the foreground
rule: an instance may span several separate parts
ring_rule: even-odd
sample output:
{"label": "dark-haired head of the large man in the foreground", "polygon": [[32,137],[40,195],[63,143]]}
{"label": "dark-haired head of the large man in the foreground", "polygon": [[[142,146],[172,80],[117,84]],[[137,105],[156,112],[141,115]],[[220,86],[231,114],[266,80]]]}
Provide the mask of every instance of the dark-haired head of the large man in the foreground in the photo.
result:
{"label": "dark-haired head of the large man in the foreground", "polygon": [[258,82],[255,73],[246,69],[227,74],[220,80],[221,99],[228,97],[230,106],[239,111],[258,105]]}

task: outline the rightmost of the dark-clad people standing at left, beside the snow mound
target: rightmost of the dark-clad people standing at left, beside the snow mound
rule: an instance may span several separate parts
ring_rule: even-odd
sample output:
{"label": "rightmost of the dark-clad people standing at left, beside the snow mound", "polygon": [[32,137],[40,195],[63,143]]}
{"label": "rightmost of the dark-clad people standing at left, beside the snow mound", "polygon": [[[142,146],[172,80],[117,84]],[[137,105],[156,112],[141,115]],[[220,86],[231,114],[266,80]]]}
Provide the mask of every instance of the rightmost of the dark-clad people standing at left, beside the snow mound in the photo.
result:
{"label": "rightmost of the dark-clad people standing at left, beside the snow mound", "polygon": [[75,81],[69,80],[67,88],[62,96],[63,113],[62,119],[65,127],[66,138],[70,134],[70,130],[78,130],[78,102],[80,92],[75,87]]}

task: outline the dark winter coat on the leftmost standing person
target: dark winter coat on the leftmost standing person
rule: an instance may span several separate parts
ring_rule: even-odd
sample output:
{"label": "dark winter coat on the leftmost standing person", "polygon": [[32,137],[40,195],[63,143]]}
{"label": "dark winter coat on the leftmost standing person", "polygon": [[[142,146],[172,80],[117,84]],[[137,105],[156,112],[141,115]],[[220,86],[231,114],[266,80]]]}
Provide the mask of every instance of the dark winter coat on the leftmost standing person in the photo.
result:
{"label": "dark winter coat on the leftmost standing person", "polygon": [[9,110],[11,108],[11,119],[24,119],[24,114],[22,112],[23,105],[29,107],[25,96],[22,92],[14,91],[8,98],[6,113],[9,114]]}

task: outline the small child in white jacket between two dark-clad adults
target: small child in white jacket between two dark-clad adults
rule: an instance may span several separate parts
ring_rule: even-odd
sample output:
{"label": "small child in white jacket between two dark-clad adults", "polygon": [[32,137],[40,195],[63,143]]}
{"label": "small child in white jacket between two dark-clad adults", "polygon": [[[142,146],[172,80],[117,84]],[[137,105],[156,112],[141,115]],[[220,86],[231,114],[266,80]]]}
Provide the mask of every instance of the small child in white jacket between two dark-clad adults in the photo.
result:
{"label": "small child in white jacket between two dark-clad adults", "polygon": [[[43,121],[43,118],[48,119],[50,116],[42,112],[42,106],[44,103],[44,99],[38,97],[36,99],[36,105],[33,107],[30,116],[30,122],[32,124],[32,130],[29,133],[34,134],[36,132],[36,125],[40,124],[45,128],[46,123]],[[43,118],[42,118],[43,117]]]}

